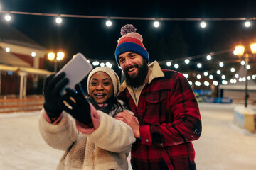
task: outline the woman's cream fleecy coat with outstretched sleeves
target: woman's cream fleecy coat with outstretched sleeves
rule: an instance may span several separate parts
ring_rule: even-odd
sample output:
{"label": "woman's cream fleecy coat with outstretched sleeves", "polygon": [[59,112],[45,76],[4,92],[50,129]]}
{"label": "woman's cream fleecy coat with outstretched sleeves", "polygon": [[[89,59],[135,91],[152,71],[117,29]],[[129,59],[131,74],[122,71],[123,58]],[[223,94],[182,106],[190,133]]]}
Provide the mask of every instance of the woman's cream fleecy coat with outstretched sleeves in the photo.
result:
{"label": "woman's cream fleecy coat with outstretched sleeves", "polygon": [[129,125],[97,111],[100,125],[88,135],[76,129],[75,119],[68,113],[64,112],[60,122],[53,125],[48,123],[44,112],[41,111],[39,118],[43,140],[50,147],[65,151],[57,169],[128,169],[127,156],[135,142]]}

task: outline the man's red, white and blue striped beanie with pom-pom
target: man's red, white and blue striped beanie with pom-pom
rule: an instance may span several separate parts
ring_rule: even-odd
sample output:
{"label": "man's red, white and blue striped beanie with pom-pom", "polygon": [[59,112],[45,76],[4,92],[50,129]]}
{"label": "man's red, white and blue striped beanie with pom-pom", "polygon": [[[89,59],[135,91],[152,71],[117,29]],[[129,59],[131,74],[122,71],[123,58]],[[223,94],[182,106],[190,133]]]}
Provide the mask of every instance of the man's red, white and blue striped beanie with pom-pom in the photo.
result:
{"label": "man's red, white and blue striped beanie with pom-pom", "polygon": [[[117,48],[114,52],[117,64],[119,64],[118,57],[124,52],[131,51],[142,55],[146,62],[149,63],[149,53],[143,45],[142,35],[136,33],[136,28],[132,24],[127,24],[121,28],[122,37],[117,40]],[[120,64],[119,64],[120,65]]]}

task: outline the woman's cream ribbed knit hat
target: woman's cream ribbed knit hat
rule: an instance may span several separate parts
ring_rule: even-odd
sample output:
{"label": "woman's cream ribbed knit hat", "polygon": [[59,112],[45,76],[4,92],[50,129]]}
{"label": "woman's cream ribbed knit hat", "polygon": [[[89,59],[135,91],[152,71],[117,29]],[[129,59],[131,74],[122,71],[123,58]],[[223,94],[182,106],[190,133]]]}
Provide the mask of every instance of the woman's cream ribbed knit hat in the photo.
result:
{"label": "woman's cream ribbed knit hat", "polygon": [[120,81],[119,81],[119,77],[118,77],[117,73],[114,72],[113,69],[110,69],[110,67],[96,67],[95,69],[92,69],[92,71],[90,72],[88,79],[87,79],[88,94],[90,94],[90,91],[89,91],[90,78],[92,77],[93,74],[95,74],[97,72],[105,72],[107,75],[109,75],[109,77],[112,81],[113,87],[114,87],[114,96],[116,97],[119,92]]}

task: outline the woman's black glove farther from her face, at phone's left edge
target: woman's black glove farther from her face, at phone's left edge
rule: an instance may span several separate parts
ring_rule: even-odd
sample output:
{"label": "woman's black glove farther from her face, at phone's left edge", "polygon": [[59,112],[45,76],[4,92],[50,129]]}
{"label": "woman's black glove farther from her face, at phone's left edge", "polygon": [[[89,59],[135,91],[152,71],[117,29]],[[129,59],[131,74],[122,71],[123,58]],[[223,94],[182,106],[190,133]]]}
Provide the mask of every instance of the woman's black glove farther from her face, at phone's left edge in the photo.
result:
{"label": "woman's black glove farther from her face, at phone's left edge", "polygon": [[43,96],[45,102],[43,108],[45,109],[49,118],[58,118],[63,109],[58,106],[60,101],[60,92],[68,84],[68,79],[65,78],[65,73],[62,72],[55,77],[51,74],[46,78],[46,83],[43,86]]}

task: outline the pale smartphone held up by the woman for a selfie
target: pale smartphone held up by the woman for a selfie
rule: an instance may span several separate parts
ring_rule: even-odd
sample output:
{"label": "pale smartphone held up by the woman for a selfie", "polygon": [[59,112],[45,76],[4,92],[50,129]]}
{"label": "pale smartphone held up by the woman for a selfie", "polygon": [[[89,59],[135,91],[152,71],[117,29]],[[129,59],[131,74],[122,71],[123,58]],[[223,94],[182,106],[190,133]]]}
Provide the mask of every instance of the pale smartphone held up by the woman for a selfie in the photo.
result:
{"label": "pale smartphone held up by the woman for a selfie", "polygon": [[[81,53],[77,53],[73,59],[71,59],[62,69],[55,75],[57,76],[60,72],[65,72],[65,77],[69,79],[69,82],[65,88],[69,87],[73,89],[75,84],[78,84],[84,79],[92,70],[92,64],[87,62],[87,59]],[[65,93],[65,88],[60,94]]]}

